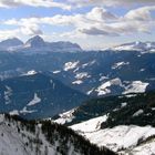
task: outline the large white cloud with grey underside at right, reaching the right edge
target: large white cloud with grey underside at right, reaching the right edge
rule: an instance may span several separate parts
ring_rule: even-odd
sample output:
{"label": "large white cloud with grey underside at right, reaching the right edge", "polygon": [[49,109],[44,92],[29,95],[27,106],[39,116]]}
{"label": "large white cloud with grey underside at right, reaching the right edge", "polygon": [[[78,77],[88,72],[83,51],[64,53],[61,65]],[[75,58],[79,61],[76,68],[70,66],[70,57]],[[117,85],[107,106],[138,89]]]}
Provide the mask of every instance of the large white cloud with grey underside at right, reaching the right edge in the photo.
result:
{"label": "large white cloud with grey underside at right, reaching the right edge", "polygon": [[[155,10],[155,7],[142,7],[128,11],[124,17],[113,16],[113,20],[99,22],[95,25],[81,28],[82,33],[90,35],[124,35],[138,32],[149,33],[149,29],[155,25],[154,19],[151,12]],[[93,12],[93,11],[92,11]],[[93,17],[93,16],[92,16]],[[100,16],[97,16],[100,17]],[[93,17],[93,19],[95,19]],[[100,19],[100,18],[99,18]],[[110,18],[108,18],[110,19]]]}

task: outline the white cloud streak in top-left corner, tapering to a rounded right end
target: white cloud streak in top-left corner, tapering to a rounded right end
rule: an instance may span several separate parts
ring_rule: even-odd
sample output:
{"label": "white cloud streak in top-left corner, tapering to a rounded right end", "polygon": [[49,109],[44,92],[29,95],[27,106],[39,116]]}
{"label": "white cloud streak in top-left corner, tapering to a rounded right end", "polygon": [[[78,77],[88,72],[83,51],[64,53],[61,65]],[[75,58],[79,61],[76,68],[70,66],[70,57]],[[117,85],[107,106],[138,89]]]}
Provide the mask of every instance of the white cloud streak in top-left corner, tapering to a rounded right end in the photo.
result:
{"label": "white cloud streak in top-left corner, tapering to a rounded right end", "polygon": [[0,8],[12,8],[21,6],[61,8],[64,10],[71,9],[71,6],[61,2],[54,2],[53,0],[0,0]]}

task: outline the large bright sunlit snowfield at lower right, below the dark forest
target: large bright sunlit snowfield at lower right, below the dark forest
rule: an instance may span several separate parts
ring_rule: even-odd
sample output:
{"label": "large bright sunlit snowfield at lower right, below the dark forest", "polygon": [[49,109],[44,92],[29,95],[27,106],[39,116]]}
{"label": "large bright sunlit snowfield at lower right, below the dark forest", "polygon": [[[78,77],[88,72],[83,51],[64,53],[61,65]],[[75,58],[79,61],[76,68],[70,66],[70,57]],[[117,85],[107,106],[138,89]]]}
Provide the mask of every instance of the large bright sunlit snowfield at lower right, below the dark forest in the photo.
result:
{"label": "large bright sunlit snowfield at lower right, below the dark forest", "polygon": [[138,142],[155,136],[154,127],[120,125],[113,128],[101,130],[100,125],[106,118],[107,116],[104,115],[70,127],[97,146],[106,146],[124,155],[153,155],[155,153],[155,138],[149,143],[142,143],[137,146]]}

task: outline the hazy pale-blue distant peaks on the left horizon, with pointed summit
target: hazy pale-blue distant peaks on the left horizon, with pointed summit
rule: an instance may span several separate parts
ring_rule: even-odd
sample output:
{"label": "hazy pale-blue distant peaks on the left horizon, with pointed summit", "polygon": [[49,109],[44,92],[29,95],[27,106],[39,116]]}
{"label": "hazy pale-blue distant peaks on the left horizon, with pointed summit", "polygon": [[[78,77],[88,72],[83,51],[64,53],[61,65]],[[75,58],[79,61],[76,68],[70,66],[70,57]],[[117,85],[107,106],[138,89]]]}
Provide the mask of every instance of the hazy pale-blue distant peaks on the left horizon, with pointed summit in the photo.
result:
{"label": "hazy pale-blue distant peaks on the left horizon, with pointed summit", "polygon": [[[10,52],[24,52],[32,54],[37,52],[80,52],[81,46],[71,42],[45,42],[41,37],[35,35],[25,43],[17,38],[8,39],[0,42],[0,50]],[[30,52],[31,51],[31,52]],[[28,53],[29,52],[29,53]]]}

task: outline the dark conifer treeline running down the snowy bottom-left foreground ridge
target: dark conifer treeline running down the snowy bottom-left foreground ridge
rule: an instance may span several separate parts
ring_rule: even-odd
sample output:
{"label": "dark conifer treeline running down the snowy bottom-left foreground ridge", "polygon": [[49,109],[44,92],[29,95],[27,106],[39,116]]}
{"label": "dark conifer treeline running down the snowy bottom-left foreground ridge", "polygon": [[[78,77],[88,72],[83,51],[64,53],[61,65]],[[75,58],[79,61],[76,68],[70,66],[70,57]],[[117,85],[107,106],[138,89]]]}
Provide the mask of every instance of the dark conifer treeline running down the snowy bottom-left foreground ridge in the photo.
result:
{"label": "dark conifer treeline running down the snowy bottom-left foreground ridge", "polygon": [[[106,147],[97,147],[96,145],[91,144],[89,140],[85,140],[73,130],[52,123],[51,121],[27,121],[18,115],[10,116],[9,114],[4,114],[4,117],[10,123],[20,122],[20,127],[17,126],[19,130],[25,128],[35,135],[38,135],[39,124],[41,124],[40,130],[46,141],[55,146],[56,152],[61,155],[68,155],[71,151],[73,151],[73,154],[78,153],[81,155],[116,155]],[[40,137],[37,140],[39,141]]]}

